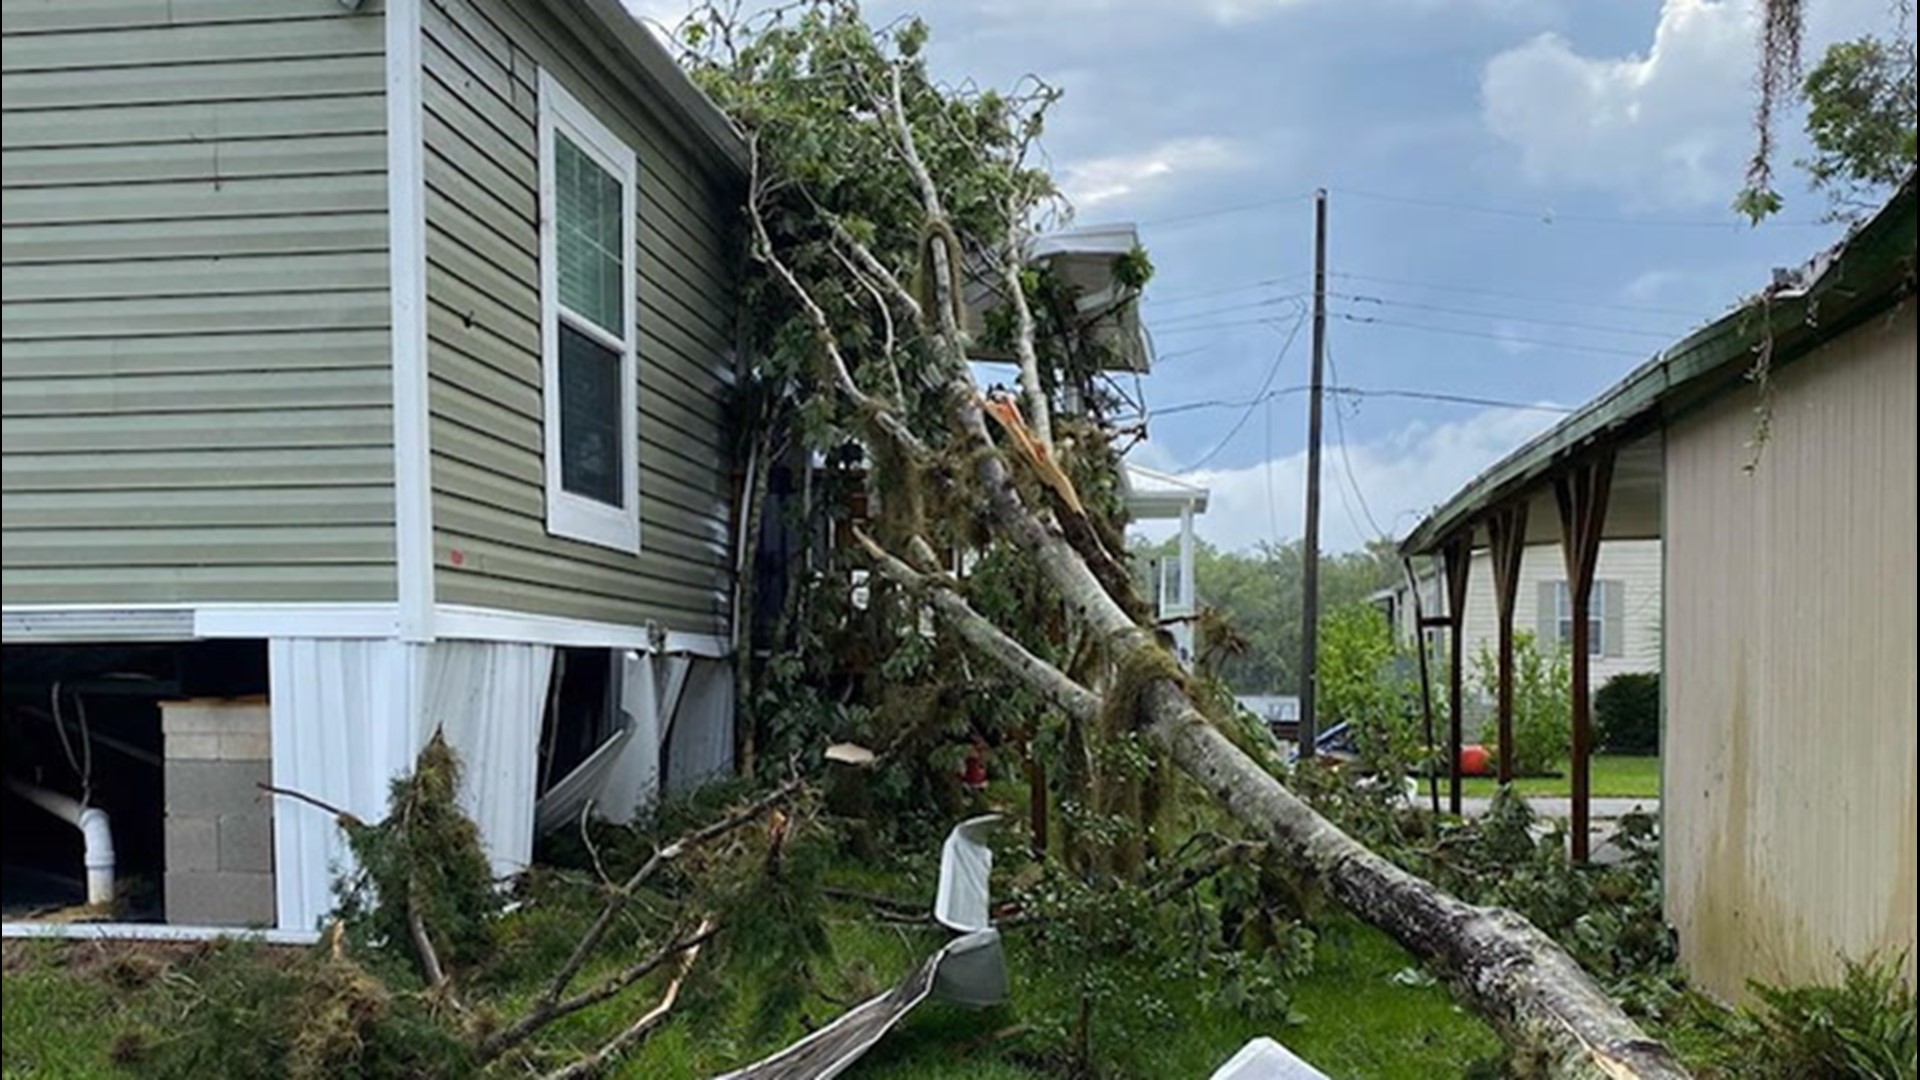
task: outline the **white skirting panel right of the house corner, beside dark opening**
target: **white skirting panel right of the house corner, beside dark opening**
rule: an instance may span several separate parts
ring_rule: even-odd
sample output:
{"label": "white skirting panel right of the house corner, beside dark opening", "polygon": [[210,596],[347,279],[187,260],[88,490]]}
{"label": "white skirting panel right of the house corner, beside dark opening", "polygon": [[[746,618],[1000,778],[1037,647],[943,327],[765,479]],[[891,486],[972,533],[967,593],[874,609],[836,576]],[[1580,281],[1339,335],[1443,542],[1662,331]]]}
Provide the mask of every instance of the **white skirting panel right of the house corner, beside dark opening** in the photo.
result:
{"label": "white skirting panel right of the house corner, beside dark opening", "polygon": [[440,728],[461,755],[461,809],[480,826],[493,874],[534,859],[540,721],[551,646],[434,642],[426,646],[420,740]]}

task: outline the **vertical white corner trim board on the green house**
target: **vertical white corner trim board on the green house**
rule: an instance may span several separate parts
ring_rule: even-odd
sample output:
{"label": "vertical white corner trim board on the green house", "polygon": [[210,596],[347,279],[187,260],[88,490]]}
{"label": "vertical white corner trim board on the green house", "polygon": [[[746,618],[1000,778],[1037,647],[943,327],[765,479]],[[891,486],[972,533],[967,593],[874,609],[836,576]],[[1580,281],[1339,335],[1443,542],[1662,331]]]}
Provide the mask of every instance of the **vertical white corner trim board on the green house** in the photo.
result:
{"label": "vertical white corner trim board on the green house", "polygon": [[399,634],[434,636],[434,488],[426,379],[426,119],[420,0],[386,4],[386,242],[394,363],[394,573]]}

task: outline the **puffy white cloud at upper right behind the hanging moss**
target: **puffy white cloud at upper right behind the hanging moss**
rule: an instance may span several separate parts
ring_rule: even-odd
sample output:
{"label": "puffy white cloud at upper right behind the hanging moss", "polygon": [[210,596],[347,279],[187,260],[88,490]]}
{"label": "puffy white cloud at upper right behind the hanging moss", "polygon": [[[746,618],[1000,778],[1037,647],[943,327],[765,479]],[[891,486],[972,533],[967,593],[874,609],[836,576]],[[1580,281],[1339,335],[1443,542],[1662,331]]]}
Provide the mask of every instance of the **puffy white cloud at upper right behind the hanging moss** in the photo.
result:
{"label": "puffy white cloud at upper right behind the hanging moss", "polygon": [[[1753,135],[1753,0],[1665,0],[1642,54],[1582,56],[1540,35],[1488,61],[1480,115],[1528,181],[1647,208],[1726,206]],[[1812,6],[1807,56],[1885,23],[1884,0]],[[1782,127],[1789,129],[1791,119]]]}

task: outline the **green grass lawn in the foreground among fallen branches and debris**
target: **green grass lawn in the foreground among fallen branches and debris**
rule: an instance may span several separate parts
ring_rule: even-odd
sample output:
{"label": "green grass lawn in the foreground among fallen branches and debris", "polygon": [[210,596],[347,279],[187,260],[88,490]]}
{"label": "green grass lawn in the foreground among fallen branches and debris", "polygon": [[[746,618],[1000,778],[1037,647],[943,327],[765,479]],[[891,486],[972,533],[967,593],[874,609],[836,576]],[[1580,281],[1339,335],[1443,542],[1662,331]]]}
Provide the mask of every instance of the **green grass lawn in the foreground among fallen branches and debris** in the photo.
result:
{"label": "green grass lawn in the foreground among fallen branches and debris", "polygon": [[[908,896],[912,886],[900,886]],[[891,890],[889,890],[891,892]],[[820,990],[852,1003],[877,994],[947,940],[931,926],[889,926],[854,907],[829,924],[833,959],[816,972]],[[156,1022],[169,1007],[169,980],[127,984],[106,959],[140,945],[8,942],[4,974],[4,1074],[61,1078],[134,1076],[113,1063],[121,1032]],[[184,955],[184,953],[180,953]],[[190,961],[180,961],[190,963]],[[1453,1005],[1438,986],[1404,986],[1396,974],[1409,957],[1386,936],[1334,919],[1317,947],[1315,970],[1292,984],[1298,1022],[1277,1026],[1238,1009],[1212,1009],[1194,988],[1162,988],[1169,1015],[1142,1038],[1108,1047],[1112,1076],[1206,1076],[1254,1036],[1273,1036],[1331,1076],[1417,1080],[1428,1076],[1496,1076],[1501,1051],[1494,1032]],[[1031,955],[1018,930],[1008,932],[1012,1001],[964,1009],[929,1001],[849,1076],[860,1080],[1044,1080],[1066,1076],[1058,1019],[1069,1017],[1069,986]],[[188,969],[190,970],[190,969]],[[708,972],[728,980],[726,970]],[[605,1032],[651,1005],[657,986],[589,1009],[563,1022],[561,1040],[588,1049]],[[624,1078],[705,1078],[755,1061],[839,1015],[822,997],[780,1017],[760,1017],[751,1001],[703,1007],[701,992],[674,1019],[614,1068]]]}

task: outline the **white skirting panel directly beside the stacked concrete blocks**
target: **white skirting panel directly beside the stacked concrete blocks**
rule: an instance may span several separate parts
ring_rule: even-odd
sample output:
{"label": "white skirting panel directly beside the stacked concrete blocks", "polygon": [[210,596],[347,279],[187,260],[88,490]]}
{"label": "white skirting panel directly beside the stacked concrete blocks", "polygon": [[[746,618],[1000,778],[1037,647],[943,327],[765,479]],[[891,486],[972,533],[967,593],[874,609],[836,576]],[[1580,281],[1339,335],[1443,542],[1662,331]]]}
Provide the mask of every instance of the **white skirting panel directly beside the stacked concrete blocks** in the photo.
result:
{"label": "white skirting panel directly beside the stacked concrete blocks", "polygon": [[[386,815],[388,784],[413,765],[420,646],[394,640],[275,638],[269,646],[273,782],[367,821]],[[326,811],[276,798],[275,894],[280,930],[315,930],[349,865]]]}

